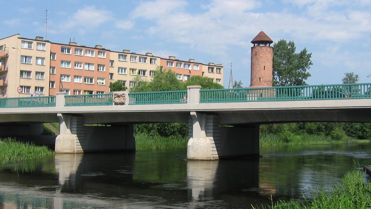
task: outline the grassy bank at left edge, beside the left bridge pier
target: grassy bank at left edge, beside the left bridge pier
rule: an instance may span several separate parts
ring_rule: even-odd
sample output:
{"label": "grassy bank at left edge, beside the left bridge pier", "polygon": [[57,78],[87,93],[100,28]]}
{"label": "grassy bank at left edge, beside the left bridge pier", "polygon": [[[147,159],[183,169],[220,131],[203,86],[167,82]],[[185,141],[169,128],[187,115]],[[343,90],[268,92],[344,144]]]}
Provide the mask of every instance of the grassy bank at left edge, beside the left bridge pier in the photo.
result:
{"label": "grassy bank at left edge, beside the left bridge pier", "polygon": [[47,147],[18,142],[12,138],[0,139],[0,165],[37,160],[54,154]]}

